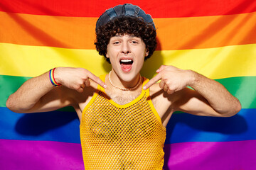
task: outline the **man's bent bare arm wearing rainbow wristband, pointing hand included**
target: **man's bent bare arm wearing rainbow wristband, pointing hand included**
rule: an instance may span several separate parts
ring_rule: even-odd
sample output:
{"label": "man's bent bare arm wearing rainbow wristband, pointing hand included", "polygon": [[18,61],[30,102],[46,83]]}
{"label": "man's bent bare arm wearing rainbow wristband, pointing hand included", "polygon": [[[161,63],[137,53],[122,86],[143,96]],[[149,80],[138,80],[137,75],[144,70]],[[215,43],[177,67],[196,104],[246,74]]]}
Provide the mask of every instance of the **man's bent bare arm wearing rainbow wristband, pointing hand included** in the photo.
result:
{"label": "man's bent bare arm wearing rainbow wristband, pointing hand included", "polygon": [[54,88],[50,83],[49,72],[46,72],[28,79],[9,96],[6,107],[17,113],[33,113],[70,106],[74,103],[74,90],[82,92],[85,86],[90,86],[90,79],[105,87],[104,82],[86,69],[58,67],[55,69],[55,80],[63,86]]}

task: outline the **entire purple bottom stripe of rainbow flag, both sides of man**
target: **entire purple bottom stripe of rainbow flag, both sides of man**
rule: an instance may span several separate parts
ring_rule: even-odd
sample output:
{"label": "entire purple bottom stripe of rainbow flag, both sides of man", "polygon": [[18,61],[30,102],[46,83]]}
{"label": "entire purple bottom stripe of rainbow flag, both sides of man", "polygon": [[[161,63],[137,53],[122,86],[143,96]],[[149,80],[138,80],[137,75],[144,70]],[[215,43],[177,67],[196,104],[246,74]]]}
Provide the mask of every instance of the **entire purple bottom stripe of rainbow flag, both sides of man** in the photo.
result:
{"label": "entire purple bottom stripe of rainbow flag, both sides of man", "polygon": [[[0,140],[0,169],[84,169],[80,144]],[[164,170],[255,170],[256,140],[164,146]]]}

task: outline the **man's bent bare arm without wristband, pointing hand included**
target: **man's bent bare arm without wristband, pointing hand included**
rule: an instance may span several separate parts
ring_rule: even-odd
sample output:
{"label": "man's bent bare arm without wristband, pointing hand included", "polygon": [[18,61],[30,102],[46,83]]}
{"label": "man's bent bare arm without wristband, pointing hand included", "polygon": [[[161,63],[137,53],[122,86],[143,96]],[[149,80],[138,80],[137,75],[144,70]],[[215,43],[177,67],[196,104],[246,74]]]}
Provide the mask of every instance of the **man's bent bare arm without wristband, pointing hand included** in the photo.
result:
{"label": "man's bent bare arm without wristband, pointing hand included", "polygon": [[[157,72],[159,74],[144,89],[161,79],[159,86],[170,94],[172,106],[177,111],[195,115],[231,116],[241,109],[238,99],[217,81],[173,66],[162,66]],[[191,86],[195,91],[186,86]]]}

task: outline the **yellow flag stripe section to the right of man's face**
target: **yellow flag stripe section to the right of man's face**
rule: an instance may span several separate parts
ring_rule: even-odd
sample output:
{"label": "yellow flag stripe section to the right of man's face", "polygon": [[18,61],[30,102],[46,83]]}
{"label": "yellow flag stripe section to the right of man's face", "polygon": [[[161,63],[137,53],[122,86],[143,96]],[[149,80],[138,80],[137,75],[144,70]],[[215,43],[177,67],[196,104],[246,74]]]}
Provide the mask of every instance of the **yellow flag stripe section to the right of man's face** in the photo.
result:
{"label": "yellow flag stripe section to the right of man's face", "polygon": [[144,64],[142,75],[147,75],[148,78],[154,74],[151,73],[151,68],[155,72],[161,63],[192,69],[210,79],[256,76],[256,44],[156,51],[147,62],[149,63]]}

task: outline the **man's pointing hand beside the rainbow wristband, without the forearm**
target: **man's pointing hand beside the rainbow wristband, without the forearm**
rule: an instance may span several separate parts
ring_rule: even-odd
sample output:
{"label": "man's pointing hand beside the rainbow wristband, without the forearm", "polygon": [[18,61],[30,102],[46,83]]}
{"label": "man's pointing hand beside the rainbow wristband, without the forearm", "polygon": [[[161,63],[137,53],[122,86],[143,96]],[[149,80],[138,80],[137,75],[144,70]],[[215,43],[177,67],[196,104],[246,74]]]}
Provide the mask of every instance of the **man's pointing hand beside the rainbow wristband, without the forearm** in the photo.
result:
{"label": "man's pointing hand beside the rainbow wristband, without the forearm", "polygon": [[75,89],[80,93],[85,86],[90,86],[90,79],[95,81],[96,84],[100,84],[103,88],[107,88],[107,85],[99,77],[84,68],[57,67],[54,77],[57,83],[70,89]]}

